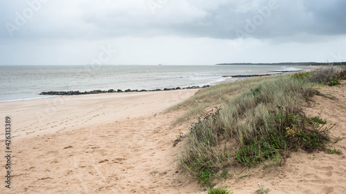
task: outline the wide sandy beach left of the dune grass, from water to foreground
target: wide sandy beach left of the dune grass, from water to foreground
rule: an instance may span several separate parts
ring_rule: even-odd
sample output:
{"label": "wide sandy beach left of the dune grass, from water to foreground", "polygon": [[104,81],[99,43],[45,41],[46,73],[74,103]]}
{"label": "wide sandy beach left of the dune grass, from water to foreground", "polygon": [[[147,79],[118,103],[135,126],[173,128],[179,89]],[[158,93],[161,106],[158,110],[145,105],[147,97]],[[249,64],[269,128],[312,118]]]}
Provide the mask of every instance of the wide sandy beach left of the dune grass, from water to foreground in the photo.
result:
{"label": "wide sandy beach left of the dune grass, from water to foreground", "polygon": [[[11,189],[1,184],[0,193],[163,192],[163,177],[175,174],[166,149],[182,131],[170,130],[175,114],[161,112],[196,91],[0,102],[1,117],[12,119]],[[178,179],[171,184],[180,191]]]}

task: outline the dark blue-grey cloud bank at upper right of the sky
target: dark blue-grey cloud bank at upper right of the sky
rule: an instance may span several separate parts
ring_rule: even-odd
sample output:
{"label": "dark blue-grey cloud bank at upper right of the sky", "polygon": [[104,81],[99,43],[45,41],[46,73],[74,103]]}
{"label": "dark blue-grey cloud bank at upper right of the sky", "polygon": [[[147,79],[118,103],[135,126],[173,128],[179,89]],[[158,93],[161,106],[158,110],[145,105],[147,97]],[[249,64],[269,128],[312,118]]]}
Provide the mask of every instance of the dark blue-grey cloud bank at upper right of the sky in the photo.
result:
{"label": "dark blue-grey cloud bank at upper right of the sky", "polygon": [[[268,1],[266,1],[268,2]],[[256,39],[272,39],[286,37],[294,40],[298,35],[345,35],[346,34],[346,1],[277,1],[279,8],[271,10],[270,17],[264,18],[260,25],[255,25],[253,19],[260,17],[259,9],[268,5],[262,1],[257,8],[247,12],[236,12],[237,3],[228,3],[209,12],[208,17],[194,23],[183,23],[170,26],[181,34],[205,36],[220,39],[237,39],[235,31],[242,30]],[[318,4],[320,3],[320,4]],[[317,6],[320,5],[320,6]],[[257,18],[256,18],[257,17]],[[255,30],[246,31],[251,25]],[[198,23],[208,23],[203,26]]]}

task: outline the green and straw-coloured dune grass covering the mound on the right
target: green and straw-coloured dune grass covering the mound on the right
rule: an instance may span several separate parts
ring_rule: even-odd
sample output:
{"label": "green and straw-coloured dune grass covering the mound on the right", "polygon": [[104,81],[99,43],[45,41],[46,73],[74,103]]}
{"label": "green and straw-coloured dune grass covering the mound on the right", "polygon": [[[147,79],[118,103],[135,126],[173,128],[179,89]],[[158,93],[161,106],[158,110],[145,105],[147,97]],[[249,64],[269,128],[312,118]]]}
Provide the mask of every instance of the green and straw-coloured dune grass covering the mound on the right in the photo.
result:
{"label": "green and straw-coloured dune grass covering the mound on the right", "polygon": [[345,66],[325,66],[311,72],[244,79],[199,90],[167,110],[187,110],[174,124],[205,115],[185,135],[180,168],[202,186],[212,188],[213,180],[220,172],[228,175],[231,166],[283,166],[291,152],[298,149],[340,154],[330,146],[335,138],[341,140],[330,135],[335,124],[321,117],[308,117],[302,111],[313,95],[322,95],[317,86],[335,86],[340,79],[346,79]]}

